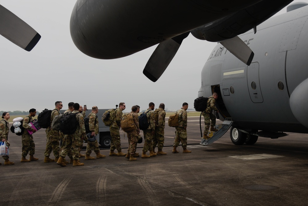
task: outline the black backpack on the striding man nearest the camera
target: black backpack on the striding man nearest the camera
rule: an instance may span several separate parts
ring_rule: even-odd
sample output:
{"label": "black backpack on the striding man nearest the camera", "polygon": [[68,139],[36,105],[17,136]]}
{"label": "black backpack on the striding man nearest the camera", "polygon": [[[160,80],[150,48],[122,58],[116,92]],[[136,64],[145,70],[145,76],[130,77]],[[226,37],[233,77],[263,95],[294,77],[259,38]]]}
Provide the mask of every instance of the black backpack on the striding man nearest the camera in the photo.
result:
{"label": "black backpack on the striding man nearest the camera", "polygon": [[76,113],[65,113],[60,119],[60,128],[63,134],[73,134],[77,129]]}

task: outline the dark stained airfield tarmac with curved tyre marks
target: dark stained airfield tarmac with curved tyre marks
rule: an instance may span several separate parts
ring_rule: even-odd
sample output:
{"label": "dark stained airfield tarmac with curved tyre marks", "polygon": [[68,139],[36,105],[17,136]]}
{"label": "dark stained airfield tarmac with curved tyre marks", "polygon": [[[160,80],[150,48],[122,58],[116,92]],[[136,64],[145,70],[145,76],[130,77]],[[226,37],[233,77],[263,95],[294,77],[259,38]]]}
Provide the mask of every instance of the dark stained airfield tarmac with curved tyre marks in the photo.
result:
{"label": "dark stained airfield tarmac with curved tyre marks", "polygon": [[[187,148],[192,152],[182,153],[179,146],[174,154],[174,131],[166,123],[167,155],[129,162],[101,149],[106,158],[80,158],[85,166],[79,167],[43,162],[45,129],[34,134],[39,160],[21,163],[21,137],[10,132],[10,161],[15,165],[1,161],[0,205],[307,205],[307,134],[259,137],[254,145],[237,146],[228,131],[203,146],[199,117],[188,117]],[[120,133],[126,152],[127,137]]]}

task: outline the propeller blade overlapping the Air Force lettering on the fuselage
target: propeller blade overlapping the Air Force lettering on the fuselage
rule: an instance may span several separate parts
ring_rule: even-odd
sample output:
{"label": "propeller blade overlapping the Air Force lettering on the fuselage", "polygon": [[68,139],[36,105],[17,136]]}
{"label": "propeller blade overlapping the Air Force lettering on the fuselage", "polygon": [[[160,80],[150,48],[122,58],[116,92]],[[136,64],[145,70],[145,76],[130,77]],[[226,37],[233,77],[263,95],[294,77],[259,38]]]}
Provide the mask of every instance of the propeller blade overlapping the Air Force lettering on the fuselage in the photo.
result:
{"label": "propeller blade overlapping the Air Force lettering on the fuselage", "polygon": [[240,39],[240,37],[236,36],[219,43],[246,65],[249,66],[253,61],[253,51]]}

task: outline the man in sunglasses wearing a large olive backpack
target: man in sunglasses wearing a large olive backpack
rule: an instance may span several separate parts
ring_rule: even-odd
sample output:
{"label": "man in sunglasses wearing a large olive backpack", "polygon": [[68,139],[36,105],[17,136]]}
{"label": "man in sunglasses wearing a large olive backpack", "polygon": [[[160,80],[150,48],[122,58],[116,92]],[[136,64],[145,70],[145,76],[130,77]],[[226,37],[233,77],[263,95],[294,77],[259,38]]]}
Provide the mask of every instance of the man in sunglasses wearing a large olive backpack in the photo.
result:
{"label": "man in sunglasses wearing a large olive backpack", "polygon": [[[122,111],[125,109],[125,103],[120,102],[119,108],[114,111],[113,123],[110,125],[110,153],[109,156],[125,156],[126,153],[122,152],[121,148],[121,138],[120,138],[120,127],[122,119]],[[117,149],[118,153],[115,153],[114,150]]]}

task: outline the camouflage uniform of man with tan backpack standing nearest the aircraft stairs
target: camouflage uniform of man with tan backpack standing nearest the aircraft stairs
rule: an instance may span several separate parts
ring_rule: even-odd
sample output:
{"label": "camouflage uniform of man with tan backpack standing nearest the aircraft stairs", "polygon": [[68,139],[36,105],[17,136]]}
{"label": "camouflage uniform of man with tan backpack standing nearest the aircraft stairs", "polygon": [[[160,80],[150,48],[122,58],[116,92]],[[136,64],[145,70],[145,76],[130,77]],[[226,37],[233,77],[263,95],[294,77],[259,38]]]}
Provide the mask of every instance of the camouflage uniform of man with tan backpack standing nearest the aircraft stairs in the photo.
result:
{"label": "camouflage uniform of man with tan backpack standing nearest the aircraft stairs", "polygon": [[173,146],[178,147],[181,141],[183,149],[187,147],[187,111],[183,108],[176,112],[179,114],[179,126],[175,128],[175,140]]}

